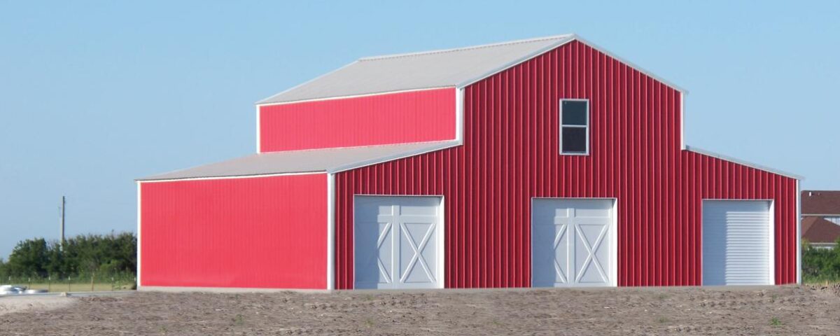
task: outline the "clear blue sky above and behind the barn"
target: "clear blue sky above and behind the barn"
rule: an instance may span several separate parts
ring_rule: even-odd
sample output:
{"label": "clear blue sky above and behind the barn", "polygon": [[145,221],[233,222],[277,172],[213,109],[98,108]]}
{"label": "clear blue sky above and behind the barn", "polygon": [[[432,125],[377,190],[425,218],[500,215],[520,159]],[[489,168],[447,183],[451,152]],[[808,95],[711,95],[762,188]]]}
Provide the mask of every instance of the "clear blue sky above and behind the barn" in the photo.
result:
{"label": "clear blue sky above and behind the barn", "polygon": [[[515,4],[514,4],[515,3]],[[360,56],[576,33],[689,90],[688,144],[840,189],[840,2],[6,2],[0,256],[134,231],[134,178],[255,150],[253,103]]]}

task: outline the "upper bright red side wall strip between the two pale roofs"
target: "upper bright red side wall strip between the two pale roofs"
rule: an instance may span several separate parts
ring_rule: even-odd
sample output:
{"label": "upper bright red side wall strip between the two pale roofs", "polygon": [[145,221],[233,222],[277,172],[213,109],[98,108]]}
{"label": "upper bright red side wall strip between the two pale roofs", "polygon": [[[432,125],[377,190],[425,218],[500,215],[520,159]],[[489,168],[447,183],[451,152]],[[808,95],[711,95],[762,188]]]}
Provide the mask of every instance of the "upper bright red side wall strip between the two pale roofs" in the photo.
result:
{"label": "upper bright red side wall strip between the two pale roofs", "polygon": [[451,87],[260,107],[263,152],[454,138]]}

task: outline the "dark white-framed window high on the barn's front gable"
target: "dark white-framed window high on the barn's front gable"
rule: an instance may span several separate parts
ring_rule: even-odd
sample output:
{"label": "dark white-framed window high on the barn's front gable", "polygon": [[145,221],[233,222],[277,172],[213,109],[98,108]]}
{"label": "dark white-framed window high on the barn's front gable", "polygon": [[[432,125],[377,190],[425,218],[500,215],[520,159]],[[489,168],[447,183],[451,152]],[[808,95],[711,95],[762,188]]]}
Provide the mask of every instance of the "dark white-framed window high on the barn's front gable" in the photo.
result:
{"label": "dark white-framed window high on the barn's front gable", "polygon": [[561,101],[560,114],[560,154],[589,154],[589,102]]}

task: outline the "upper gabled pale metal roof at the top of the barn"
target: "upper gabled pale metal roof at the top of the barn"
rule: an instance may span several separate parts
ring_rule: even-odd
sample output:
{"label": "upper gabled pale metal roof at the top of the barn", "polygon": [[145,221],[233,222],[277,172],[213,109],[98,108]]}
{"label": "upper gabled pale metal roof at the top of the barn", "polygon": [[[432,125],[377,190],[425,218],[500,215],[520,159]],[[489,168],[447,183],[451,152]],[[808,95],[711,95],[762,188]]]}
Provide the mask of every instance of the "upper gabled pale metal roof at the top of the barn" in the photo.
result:
{"label": "upper gabled pale metal roof at the top of the barn", "polygon": [[[298,102],[328,97],[349,97],[384,92],[401,92],[439,87],[465,87],[496,72],[515,66],[549,50],[580,40],[607,55],[616,55],[575,34],[537,39],[520,39],[492,45],[475,45],[449,50],[364,57],[328,72],[312,81],[265,98],[257,104]],[[622,62],[659,81],[680,87],[650,74],[626,60]]]}

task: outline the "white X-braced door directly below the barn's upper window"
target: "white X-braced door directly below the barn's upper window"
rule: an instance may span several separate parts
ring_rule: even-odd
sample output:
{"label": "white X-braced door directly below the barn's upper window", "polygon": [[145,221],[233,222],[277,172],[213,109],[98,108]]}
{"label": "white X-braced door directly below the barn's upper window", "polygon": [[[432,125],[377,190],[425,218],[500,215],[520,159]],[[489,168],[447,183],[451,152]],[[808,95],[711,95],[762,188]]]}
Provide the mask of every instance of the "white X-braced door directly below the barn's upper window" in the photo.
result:
{"label": "white X-braced door directly below the barn's upper window", "polygon": [[533,286],[615,286],[613,200],[533,200]]}

